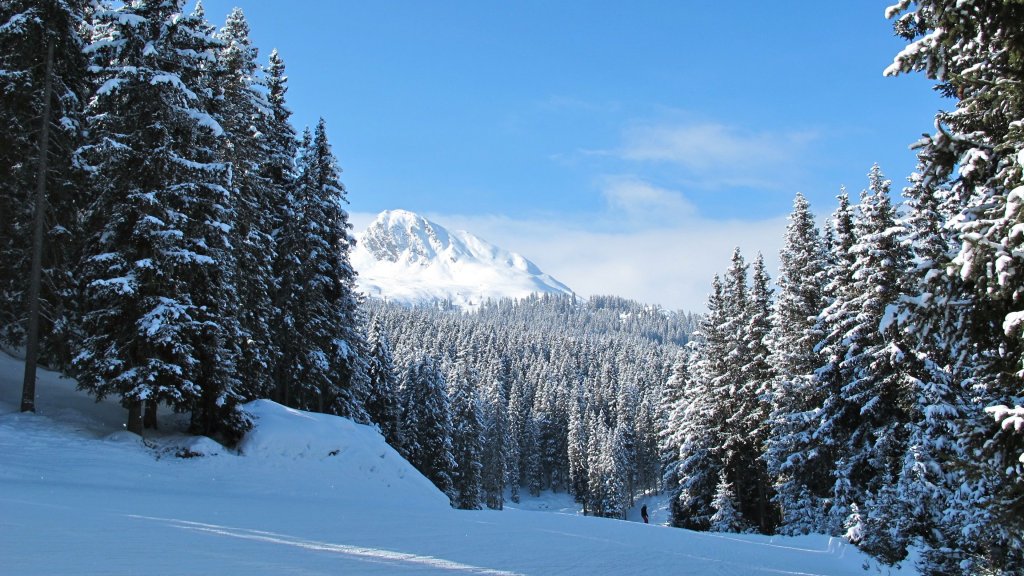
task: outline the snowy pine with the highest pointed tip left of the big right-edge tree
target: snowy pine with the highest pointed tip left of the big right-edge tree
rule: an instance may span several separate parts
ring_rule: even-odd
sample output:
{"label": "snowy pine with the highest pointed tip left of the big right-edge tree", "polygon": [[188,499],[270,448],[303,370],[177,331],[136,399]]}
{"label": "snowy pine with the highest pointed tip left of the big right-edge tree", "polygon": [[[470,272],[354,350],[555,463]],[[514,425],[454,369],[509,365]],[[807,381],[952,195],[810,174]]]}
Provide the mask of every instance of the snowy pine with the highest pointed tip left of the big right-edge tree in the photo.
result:
{"label": "snowy pine with the highest pointed tip left of the big right-edge tree", "polygon": [[843,525],[851,503],[865,504],[879,495],[886,478],[895,478],[906,441],[905,346],[899,331],[882,320],[901,294],[907,255],[889,180],[877,165],[868,180],[854,222],[851,284],[823,315],[831,330],[825,340],[828,364],[819,374],[827,378],[830,394],[822,404],[817,435],[843,454],[834,471],[841,487],[834,491],[835,529]]}

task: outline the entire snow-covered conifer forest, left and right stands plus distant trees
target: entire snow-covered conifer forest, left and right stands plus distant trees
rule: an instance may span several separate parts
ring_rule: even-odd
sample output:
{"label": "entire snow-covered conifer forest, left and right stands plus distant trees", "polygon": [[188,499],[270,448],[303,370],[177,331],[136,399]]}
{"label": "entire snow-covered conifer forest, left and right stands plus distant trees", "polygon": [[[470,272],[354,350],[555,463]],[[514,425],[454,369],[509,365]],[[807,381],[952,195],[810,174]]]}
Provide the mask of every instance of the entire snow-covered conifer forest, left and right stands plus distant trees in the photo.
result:
{"label": "entire snow-covered conifer forest, left and right stands plus distant trees", "polygon": [[667,492],[682,528],[1024,571],[1024,4],[889,8],[886,73],[949,102],[916,171],[870,167],[823,225],[798,195],[776,278],[737,250],[700,316],[365,300],[326,123],[292,126],[241,10],[185,7],[0,2],[0,339],[27,367],[137,433],[163,406],[230,443],[259,398],[374,422],[458,507]]}

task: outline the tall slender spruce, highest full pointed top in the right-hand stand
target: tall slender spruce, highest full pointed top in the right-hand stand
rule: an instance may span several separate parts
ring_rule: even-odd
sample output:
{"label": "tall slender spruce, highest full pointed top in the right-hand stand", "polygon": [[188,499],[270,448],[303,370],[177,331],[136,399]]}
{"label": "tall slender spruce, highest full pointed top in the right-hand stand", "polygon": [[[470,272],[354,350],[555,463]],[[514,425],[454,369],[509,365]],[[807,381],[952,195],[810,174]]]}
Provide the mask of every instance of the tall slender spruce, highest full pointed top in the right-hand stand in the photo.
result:
{"label": "tall slender spruce, highest full pointed top in the right-hand stand", "polygon": [[849,377],[842,388],[843,402],[857,411],[850,428],[840,475],[850,479],[861,502],[864,533],[861,547],[888,561],[902,560],[905,545],[901,523],[891,518],[901,502],[895,479],[906,450],[907,410],[912,392],[915,358],[908,354],[898,326],[887,321],[906,290],[908,252],[890,197],[890,182],[878,165],[868,174],[869,187],[861,195],[853,247],[853,308],[857,325],[848,334],[850,347],[845,369]]}

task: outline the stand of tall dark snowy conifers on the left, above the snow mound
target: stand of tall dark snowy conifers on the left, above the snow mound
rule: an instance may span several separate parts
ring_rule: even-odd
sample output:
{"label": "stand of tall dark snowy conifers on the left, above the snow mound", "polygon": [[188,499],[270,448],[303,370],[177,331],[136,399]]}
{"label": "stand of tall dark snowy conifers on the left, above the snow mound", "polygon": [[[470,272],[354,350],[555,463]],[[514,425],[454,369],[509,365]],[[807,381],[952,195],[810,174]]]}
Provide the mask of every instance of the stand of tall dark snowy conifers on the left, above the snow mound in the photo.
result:
{"label": "stand of tall dark snowy conifers on the left, above the snow mound", "polygon": [[297,135],[284,61],[257,63],[241,10],[217,31],[183,8],[0,3],[0,337],[30,331],[38,215],[39,357],[130,429],[165,403],[230,439],[253,398],[365,419],[325,123]]}

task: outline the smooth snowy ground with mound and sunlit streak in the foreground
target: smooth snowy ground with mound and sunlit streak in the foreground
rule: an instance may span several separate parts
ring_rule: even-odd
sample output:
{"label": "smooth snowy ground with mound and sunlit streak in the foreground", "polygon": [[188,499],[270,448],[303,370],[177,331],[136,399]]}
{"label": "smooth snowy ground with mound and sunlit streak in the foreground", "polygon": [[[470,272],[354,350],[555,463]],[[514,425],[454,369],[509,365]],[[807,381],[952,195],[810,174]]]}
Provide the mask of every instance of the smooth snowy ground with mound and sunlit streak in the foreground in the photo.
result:
{"label": "smooth snowy ground with mound and sunlit streak in the foreground", "polygon": [[242,454],[142,442],[51,373],[19,414],[22,370],[0,353],[3,574],[864,574],[840,540],[587,518],[564,495],[455,510],[372,428],[270,402],[250,405]]}

